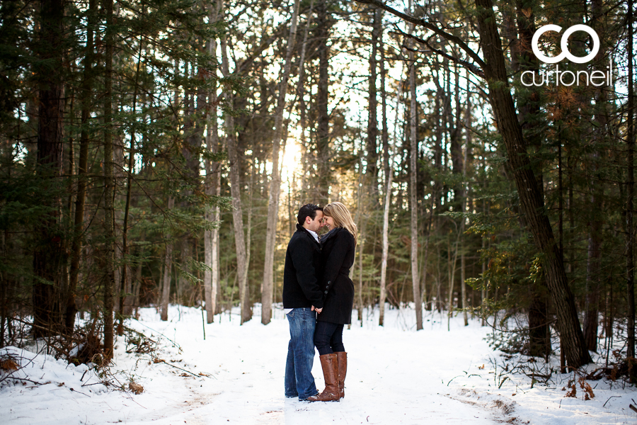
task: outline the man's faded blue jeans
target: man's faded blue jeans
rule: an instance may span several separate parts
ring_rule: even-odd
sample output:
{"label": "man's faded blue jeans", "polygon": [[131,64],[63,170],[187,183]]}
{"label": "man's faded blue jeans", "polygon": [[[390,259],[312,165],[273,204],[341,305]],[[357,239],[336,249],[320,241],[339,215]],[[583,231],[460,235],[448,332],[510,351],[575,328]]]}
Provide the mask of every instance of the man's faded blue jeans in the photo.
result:
{"label": "man's faded blue jeans", "polygon": [[286,314],[289,322],[289,344],[285,363],[285,397],[304,400],[319,394],[314,385],[314,328],[316,312],[310,307],[295,308]]}

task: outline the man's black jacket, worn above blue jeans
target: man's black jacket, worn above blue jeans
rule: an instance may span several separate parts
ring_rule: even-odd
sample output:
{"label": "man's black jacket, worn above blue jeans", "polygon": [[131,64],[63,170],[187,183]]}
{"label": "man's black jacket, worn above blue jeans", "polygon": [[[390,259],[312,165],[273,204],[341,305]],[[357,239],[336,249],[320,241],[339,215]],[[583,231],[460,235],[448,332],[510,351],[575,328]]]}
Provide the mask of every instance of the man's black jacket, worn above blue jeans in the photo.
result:
{"label": "man's black jacket, worn above blue jeans", "polygon": [[283,308],[323,307],[321,246],[302,225],[287,244],[283,269]]}

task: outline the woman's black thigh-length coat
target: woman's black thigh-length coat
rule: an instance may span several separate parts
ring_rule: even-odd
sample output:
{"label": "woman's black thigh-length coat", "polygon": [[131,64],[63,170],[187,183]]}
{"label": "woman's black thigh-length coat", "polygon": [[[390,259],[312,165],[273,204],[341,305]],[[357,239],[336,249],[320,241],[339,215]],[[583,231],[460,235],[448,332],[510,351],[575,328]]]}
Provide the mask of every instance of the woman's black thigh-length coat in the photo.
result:
{"label": "woman's black thigh-length coat", "polygon": [[321,237],[321,289],[325,302],[317,318],[319,322],[352,323],[354,283],[349,275],[355,247],[354,237],[343,227],[336,227]]}

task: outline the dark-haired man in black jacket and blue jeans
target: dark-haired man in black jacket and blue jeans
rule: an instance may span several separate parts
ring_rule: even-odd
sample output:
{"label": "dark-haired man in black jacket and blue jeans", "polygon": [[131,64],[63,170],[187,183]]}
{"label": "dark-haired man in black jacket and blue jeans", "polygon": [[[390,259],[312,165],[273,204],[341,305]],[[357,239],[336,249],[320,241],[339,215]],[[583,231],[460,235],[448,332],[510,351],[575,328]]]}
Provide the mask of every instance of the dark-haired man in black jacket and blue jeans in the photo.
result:
{"label": "dark-haired man in black jacket and blue jeans", "polygon": [[297,221],[297,231],[287,244],[283,269],[283,308],[289,322],[285,397],[306,400],[319,394],[312,365],[316,313],[323,310],[323,293],[319,288],[321,246],[317,234],[323,227],[323,208],[303,205]]}

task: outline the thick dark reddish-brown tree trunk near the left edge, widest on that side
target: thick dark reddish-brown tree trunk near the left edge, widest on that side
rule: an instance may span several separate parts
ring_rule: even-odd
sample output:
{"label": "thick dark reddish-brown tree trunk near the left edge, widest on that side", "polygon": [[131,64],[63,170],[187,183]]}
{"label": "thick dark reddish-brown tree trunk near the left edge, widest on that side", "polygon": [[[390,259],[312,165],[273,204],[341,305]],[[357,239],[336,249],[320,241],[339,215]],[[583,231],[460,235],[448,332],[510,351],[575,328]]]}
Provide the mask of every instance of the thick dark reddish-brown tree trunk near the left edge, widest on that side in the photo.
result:
{"label": "thick dark reddish-brown tree trunk near the left edge, widest on that side", "polygon": [[[64,166],[64,1],[40,1],[40,32],[35,64],[40,106],[38,108],[38,177],[57,191]],[[50,213],[36,228],[38,242],[33,253],[33,336],[56,334],[62,329],[60,295],[64,244],[59,229],[62,200],[47,198]],[[43,283],[42,280],[47,281]]]}

